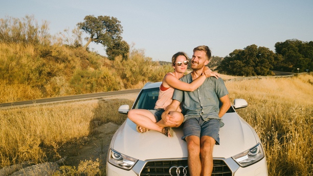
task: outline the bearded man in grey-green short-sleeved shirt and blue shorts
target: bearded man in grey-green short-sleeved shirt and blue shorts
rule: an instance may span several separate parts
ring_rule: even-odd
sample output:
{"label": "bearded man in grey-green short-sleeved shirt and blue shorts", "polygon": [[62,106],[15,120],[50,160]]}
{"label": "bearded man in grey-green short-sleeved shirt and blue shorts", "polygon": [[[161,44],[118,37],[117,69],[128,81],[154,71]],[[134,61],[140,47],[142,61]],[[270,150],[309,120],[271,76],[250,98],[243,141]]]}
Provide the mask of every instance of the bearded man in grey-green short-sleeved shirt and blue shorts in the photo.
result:
{"label": "bearded man in grey-green short-sleeved shirt and blue shorts", "polygon": [[[181,78],[190,83],[201,76],[203,68],[211,59],[208,46],[193,49],[192,72]],[[227,88],[221,78],[207,78],[197,90],[192,92],[175,89],[172,103],[162,114],[162,119],[170,118],[182,103],[185,110],[184,136],[188,149],[188,169],[190,175],[211,175],[213,170],[213,147],[219,145],[219,128],[223,126],[221,117],[230,108]],[[219,108],[219,101],[222,106]]]}

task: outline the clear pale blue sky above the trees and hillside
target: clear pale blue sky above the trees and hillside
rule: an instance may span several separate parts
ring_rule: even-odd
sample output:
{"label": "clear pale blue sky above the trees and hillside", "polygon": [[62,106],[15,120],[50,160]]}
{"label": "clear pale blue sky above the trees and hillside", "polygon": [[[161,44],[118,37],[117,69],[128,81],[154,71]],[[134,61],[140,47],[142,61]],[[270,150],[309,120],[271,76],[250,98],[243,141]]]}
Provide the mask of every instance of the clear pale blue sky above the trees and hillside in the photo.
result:
{"label": "clear pale blue sky above the trees and hillside", "polygon": [[[123,40],[168,62],[181,51],[191,57],[198,45],[225,57],[252,44],[275,52],[277,42],[313,41],[312,9],[313,0],[0,0],[0,18],[34,15],[38,24],[49,22],[52,35],[73,30],[87,15],[115,17]],[[105,56],[101,44],[89,47]]]}

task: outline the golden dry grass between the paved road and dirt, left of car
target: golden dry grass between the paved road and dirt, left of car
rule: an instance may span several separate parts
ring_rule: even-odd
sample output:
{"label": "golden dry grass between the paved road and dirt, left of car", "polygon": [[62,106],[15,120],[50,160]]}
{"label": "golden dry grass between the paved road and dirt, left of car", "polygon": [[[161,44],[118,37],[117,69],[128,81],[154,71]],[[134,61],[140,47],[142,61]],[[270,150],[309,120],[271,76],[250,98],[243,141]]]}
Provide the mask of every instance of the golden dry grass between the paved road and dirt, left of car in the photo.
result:
{"label": "golden dry grass between the paved road and dirt, left of car", "polygon": [[58,159],[57,150],[90,135],[93,121],[121,124],[117,113],[128,99],[88,100],[76,103],[0,110],[0,167],[24,161]]}

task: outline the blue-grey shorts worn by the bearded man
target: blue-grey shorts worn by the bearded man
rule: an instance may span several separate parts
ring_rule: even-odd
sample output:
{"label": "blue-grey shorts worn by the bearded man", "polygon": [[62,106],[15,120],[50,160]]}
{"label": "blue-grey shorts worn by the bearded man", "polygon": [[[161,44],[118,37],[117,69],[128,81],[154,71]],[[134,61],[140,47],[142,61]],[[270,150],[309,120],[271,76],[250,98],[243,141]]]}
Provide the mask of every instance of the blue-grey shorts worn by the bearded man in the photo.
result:
{"label": "blue-grey shorts worn by the bearded man", "polygon": [[184,123],[184,136],[183,140],[187,136],[210,136],[215,139],[215,144],[219,145],[219,128],[220,119],[210,118],[208,121],[204,121],[201,117],[190,118]]}

